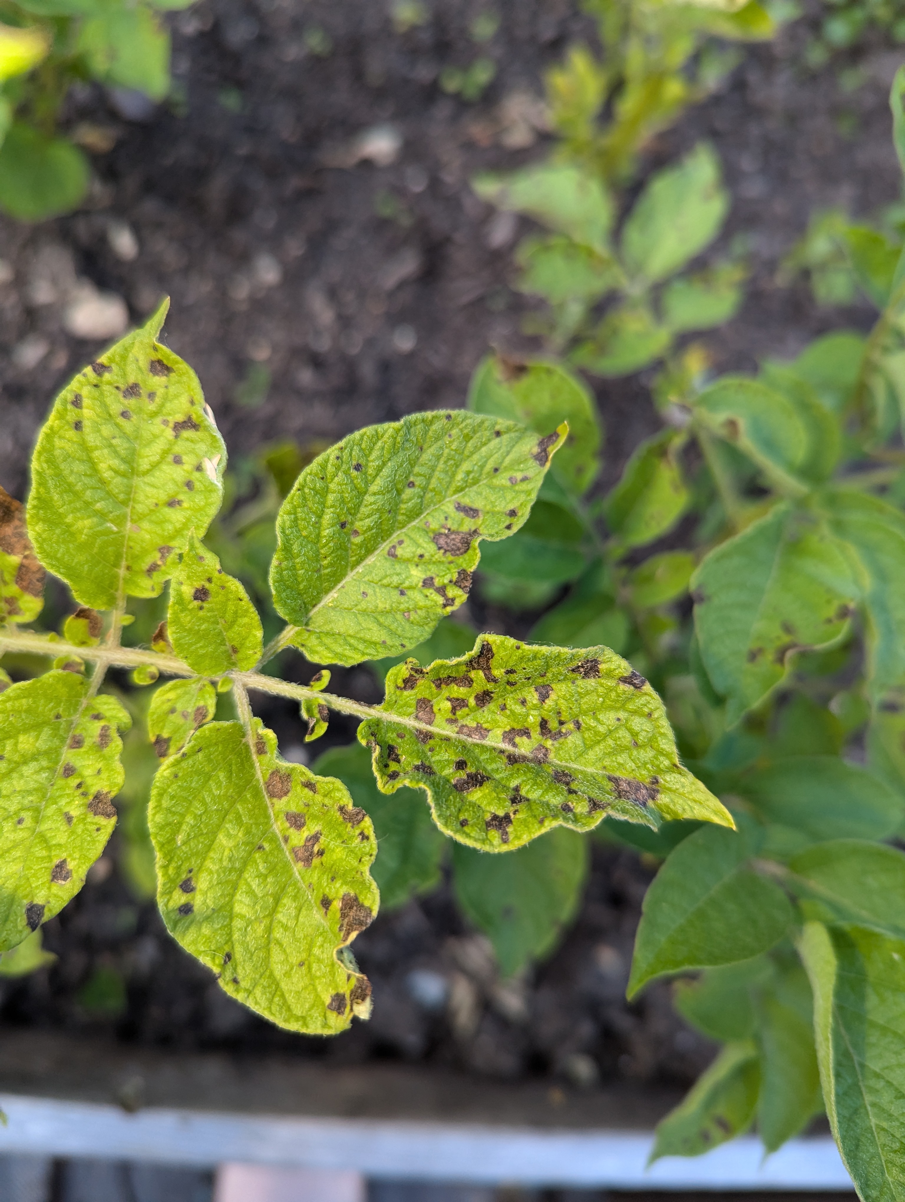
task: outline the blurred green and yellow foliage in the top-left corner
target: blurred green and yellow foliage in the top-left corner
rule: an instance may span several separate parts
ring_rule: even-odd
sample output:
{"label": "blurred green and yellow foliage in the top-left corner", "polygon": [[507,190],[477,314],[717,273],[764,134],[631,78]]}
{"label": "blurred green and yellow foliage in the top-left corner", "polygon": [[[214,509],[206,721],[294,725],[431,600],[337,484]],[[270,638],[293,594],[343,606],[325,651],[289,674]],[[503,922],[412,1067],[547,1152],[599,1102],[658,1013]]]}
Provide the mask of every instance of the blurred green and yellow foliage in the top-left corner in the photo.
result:
{"label": "blurred green and yellow foliage in the top-left corner", "polygon": [[58,132],[70,87],[97,81],[162,100],[169,35],[159,12],[186,0],[0,0],[0,209],[41,221],[79,206],[84,153]]}

